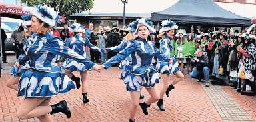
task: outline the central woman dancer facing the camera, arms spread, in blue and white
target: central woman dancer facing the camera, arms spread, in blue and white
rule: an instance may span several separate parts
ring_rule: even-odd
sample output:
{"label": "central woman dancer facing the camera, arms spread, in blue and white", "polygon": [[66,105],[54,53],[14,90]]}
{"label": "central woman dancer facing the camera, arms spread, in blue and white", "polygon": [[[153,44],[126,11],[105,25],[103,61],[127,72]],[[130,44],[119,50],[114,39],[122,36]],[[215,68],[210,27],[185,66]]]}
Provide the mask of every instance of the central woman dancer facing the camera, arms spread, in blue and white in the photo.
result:
{"label": "central woman dancer facing the camera, arms spread, in blue and white", "polygon": [[[129,121],[135,121],[135,115],[137,107],[141,106],[143,113],[148,114],[147,107],[158,101],[159,94],[155,90],[155,83],[159,83],[159,73],[157,69],[152,65],[152,57],[158,57],[169,61],[167,57],[161,55],[155,44],[147,40],[149,33],[155,32],[153,23],[149,19],[137,19],[133,25],[135,29],[134,34],[139,35],[132,41],[127,41],[125,49],[120,51],[117,55],[109,59],[101,68],[108,69],[111,65],[118,63],[131,54],[131,64],[125,67],[125,70],[121,74],[127,91],[131,93],[131,108]],[[144,103],[139,103],[139,94],[141,87],[149,92],[151,97]]]}

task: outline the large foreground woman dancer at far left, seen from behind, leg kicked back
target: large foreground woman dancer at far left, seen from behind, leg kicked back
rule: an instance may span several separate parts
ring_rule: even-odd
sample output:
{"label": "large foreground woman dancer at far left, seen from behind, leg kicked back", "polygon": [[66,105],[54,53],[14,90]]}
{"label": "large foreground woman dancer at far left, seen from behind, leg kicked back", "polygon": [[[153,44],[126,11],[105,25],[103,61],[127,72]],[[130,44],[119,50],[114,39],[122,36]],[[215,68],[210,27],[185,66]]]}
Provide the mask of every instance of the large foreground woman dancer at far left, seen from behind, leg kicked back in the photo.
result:
{"label": "large foreground woman dancer at far left, seen from behind, leg kicked back", "polygon": [[[56,23],[57,11],[47,5],[27,7],[26,11],[32,15],[31,29],[35,33],[29,37],[33,39],[33,44],[29,45],[27,50],[30,68],[21,74],[19,80],[18,96],[25,99],[17,109],[17,117],[19,119],[37,117],[40,121],[53,121],[48,113],[62,112],[70,118],[71,112],[65,100],[48,105],[51,96],[67,93],[75,88],[71,79],[61,73],[61,67],[56,64],[57,55],[65,55],[81,61],[88,68],[93,67],[98,70],[99,67],[65,47],[60,38],[53,37],[49,33]],[[25,61],[24,58],[21,59],[17,67],[25,64]]]}

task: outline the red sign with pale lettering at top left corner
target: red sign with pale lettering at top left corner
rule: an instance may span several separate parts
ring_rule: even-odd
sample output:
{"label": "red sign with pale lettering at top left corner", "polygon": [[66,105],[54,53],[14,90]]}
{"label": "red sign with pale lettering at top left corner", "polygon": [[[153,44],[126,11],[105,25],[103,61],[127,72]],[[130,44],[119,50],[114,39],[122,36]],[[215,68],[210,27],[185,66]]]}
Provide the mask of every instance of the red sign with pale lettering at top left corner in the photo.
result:
{"label": "red sign with pale lettering at top left corner", "polygon": [[9,5],[6,3],[0,3],[0,12],[7,13],[12,15],[23,15],[27,14],[25,11],[22,11],[22,7],[18,5]]}

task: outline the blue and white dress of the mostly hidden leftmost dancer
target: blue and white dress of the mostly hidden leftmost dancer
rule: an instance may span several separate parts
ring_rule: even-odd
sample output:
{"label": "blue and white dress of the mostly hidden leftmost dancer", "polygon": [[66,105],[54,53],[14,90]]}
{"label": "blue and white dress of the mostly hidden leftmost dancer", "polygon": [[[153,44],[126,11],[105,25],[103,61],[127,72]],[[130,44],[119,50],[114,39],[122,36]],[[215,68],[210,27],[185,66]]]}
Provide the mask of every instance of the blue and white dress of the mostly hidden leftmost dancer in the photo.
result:
{"label": "blue and white dress of the mostly hidden leftmost dancer", "polygon": [[[23,59],[23,57],[25,57],[25,55],[27,54],[27,47],[29,47],[29,45],[31,45],[33,43],[33,39],[29,38],[30,36],[26,37],[24,43],[23,43],[23,49],[21,49],[21,55],[19,55],[17,62],[21,61],[21,59]],[[21,67],[16,67],[16,65],[14,65],[13,67],[11,67],[11,75],[15,75],[15,76],[20,76],[21,73],[23,71],[25,71],[25,69],[29,68],[29,61],[25,62],[25,65],[21,65]]]}

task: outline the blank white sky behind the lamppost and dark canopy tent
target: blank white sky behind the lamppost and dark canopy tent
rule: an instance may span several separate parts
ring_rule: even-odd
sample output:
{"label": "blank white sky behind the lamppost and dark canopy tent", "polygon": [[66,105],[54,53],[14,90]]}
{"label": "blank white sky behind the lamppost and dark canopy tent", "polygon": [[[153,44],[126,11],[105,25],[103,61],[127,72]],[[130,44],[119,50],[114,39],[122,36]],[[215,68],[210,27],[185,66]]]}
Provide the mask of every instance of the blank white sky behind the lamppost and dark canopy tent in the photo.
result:
{"label": "blank white sky behind the lamppost and dark canopy tent", "polygon": [[[128,0],[126,13],[152,13],[163,11],[179,0]],[[203,1],[203,0],[202,0]],[[220,3],[224,9],[243,17],[256,18],[255,4]],[[185,8],[184,8],[185,9]],[[91,13],[123,13],[121,0],[94,0]]]}

